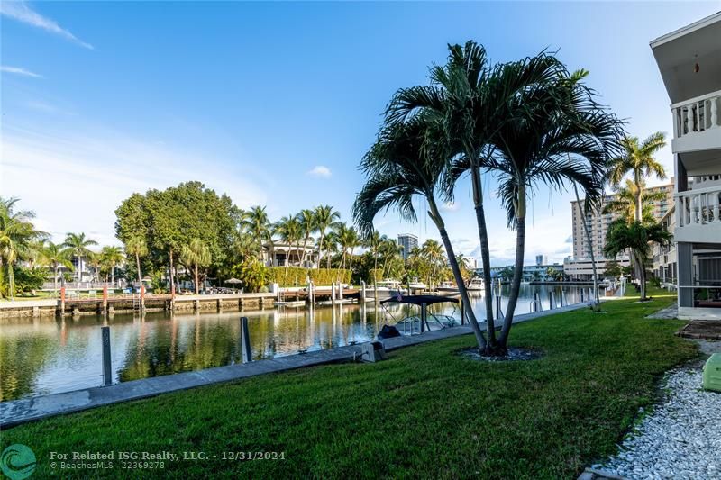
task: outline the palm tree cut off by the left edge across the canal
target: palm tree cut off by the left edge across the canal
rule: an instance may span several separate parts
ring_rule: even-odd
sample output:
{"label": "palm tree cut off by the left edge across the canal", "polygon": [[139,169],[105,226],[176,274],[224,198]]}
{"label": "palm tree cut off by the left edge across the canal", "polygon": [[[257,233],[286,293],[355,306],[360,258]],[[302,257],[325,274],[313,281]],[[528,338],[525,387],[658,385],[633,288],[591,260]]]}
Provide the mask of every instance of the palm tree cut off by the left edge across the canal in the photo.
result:
{"label": "palm tree cut off by the left edge across the canal", "polygon": [[32,245],[48,234],[35,229],[31,211],[15,212],[17,198],[0,197],[0,289],[2,294],[14,298],[14,265],[18,260],[32,256]]}

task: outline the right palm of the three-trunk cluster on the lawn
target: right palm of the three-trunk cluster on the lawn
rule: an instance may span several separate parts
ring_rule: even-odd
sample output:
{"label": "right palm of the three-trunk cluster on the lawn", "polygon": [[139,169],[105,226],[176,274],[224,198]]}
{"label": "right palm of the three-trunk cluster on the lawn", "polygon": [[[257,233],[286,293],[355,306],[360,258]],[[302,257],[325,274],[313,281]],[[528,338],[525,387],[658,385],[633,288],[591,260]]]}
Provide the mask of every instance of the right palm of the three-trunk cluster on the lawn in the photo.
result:
{"label": "right palm of the three-trunk cluster on the lawn", "polygon": [[[545,54],[542,54],[543,56]],[[504,64],[504,77],[525,77],[533,63]],[[609,158],[619,151],[621,122],[596,102],[582,80],[588,72],[569,74],[556,66],[553,75],[507,102],[507,118],[494,133],[489,161],[498,177],[498,194],[508,225],[516,229],[516,262],[498,347],[507,349],[523,277],[525,216],[528,195],[539,186],[563,191],[580,186],[589,203],[600,204]]]}

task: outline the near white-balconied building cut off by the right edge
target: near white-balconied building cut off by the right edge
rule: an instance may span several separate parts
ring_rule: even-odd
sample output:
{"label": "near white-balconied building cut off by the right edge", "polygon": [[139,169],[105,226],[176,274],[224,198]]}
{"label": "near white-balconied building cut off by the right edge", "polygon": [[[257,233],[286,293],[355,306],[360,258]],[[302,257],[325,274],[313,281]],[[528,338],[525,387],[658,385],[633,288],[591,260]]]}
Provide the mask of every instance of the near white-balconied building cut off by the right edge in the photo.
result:
{"label": "near white-balconied building cut off by the right edge", "polygon": [[721,319],[721,12],[651,50],[671,99],[679,318]]}

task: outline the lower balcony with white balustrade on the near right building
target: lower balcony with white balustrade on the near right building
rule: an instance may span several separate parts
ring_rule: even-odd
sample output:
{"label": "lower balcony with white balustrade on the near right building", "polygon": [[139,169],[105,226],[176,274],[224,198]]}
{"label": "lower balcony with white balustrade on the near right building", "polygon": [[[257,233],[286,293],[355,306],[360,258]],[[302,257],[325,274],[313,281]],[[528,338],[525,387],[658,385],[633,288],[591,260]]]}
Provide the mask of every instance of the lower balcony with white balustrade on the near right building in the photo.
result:
{"label": "lower balcony with white balustrade on the near right building", "polygon": [[721,186],[679,192],[674,240],[721,243]]}

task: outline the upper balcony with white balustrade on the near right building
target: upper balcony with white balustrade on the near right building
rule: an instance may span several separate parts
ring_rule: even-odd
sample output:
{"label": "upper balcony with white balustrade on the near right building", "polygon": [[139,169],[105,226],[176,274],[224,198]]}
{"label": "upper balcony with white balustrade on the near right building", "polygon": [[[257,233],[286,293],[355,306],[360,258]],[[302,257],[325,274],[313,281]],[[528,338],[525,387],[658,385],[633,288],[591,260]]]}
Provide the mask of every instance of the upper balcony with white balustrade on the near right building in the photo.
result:
{"label": "upper balcony with white balustrade on the near right building", "polygon": [[721,90],[671,105],[674,153],[721,149]]}

